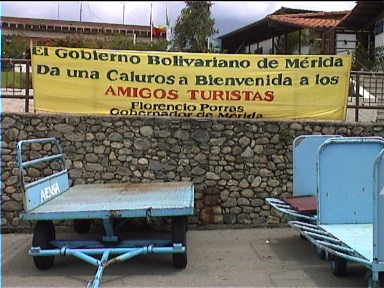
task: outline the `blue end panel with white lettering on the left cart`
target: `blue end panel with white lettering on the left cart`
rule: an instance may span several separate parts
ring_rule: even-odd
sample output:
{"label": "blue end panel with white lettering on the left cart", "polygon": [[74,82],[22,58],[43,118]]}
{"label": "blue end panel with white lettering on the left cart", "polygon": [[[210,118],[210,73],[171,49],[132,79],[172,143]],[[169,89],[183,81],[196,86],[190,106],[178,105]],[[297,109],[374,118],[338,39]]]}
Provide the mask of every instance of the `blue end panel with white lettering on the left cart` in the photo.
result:
{"label": "blue end panel with white lettering on the left cart", "polygon": [[31,211],[57,197],[69,188],[67,170],[25,186],[24,210]]}

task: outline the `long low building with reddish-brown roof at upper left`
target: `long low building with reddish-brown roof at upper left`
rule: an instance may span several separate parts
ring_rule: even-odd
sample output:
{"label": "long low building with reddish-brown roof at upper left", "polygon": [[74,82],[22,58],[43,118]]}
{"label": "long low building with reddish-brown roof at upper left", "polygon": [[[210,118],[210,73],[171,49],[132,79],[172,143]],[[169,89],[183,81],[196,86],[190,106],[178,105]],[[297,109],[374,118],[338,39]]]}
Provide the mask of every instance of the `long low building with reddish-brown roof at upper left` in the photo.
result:
{"label": "long low building with reddish-brown roof at upper left", "polygon": [[20,17],[0,17],[1,30],[5,36],[20,35],[32,42],[50,39],[65,39],[76,35],[87,39],[105,39],[112,35],[130,36],[137,41],[166,39],[166,33],[154,33],[151,27],[142,25],[122,25],[110,23],[48,20]]}

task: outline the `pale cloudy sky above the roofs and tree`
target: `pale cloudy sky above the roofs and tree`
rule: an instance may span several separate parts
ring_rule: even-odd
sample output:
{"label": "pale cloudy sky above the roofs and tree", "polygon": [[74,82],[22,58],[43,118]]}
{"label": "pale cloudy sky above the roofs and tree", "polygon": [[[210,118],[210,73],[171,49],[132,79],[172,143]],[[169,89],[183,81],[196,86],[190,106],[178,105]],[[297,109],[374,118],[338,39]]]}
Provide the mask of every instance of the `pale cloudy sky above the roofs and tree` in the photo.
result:
{"label": "pale cloudy sky above the roofs and tree", "polygon": [[[185,7],[183,1],[2,1],[2,15],[13,17],[60,19],[115,24],[165,24],[166,11],[171,25]],[[251,24],[281,7],[315,11],[343,11],[356,1],[213,1],[212,18],[220,36]],[[81,11],[81,13],[80,13]],[[125,13],[124,13],[125,12]],[[123,17],[124,14],[124,17]]]}

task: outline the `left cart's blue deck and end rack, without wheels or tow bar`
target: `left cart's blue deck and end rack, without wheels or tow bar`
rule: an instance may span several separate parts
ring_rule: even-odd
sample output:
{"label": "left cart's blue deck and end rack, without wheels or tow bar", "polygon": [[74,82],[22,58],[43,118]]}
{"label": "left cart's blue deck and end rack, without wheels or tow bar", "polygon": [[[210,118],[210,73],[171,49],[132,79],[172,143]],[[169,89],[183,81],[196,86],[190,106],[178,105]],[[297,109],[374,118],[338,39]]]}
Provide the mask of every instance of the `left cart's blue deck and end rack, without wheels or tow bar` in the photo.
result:
{"label": "left cart's blue deck and end rack, without wheels or tow bar", "polygon": [[[54,142],[59,154],[23,162],[23,145],[46,142]],[[64,162],[64,154],[55,138],[23,140],[18,142],[17,148],[22,186],[26,194],[26,212],[21,214],[23,219],[108,219],[181,216],[194,213],[194,186],[191,182],[88,184],[69,188],[68,172],[64,169],[25,184],[23,167],[55,159]]]}

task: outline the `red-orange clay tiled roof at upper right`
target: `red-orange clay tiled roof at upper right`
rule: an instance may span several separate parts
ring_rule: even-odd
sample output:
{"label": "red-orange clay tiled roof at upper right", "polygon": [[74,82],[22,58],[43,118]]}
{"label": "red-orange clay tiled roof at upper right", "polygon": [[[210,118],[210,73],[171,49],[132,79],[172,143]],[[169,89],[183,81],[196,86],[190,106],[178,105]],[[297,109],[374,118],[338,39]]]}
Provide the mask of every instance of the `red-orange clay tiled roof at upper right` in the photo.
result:
{"label": "red-orange clay tiled roof at upper right", "polygon": [[281,24],[300,28],[329,29],[336,27],[351,11],[317,12],[301,14],[270,15],[268,18]]}

